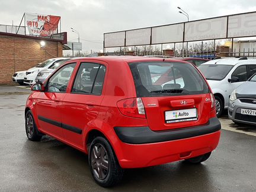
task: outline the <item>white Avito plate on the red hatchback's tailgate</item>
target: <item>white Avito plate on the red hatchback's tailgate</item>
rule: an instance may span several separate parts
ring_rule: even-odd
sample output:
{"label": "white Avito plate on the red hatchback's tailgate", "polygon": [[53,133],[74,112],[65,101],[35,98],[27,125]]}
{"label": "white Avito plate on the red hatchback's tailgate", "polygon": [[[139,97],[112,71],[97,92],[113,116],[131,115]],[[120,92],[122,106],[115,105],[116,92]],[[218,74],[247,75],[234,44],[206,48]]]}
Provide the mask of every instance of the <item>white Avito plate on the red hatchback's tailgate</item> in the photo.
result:
{"label": "white Avito plate on the red hatchback's tailgate", "polygon": [[197,108],[165,111],[166,123],[174,123],[174,122],[180,122],[180,121],[194,121],[194,120],[197,120]]}

